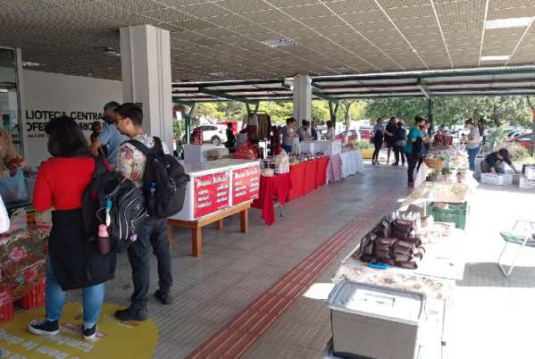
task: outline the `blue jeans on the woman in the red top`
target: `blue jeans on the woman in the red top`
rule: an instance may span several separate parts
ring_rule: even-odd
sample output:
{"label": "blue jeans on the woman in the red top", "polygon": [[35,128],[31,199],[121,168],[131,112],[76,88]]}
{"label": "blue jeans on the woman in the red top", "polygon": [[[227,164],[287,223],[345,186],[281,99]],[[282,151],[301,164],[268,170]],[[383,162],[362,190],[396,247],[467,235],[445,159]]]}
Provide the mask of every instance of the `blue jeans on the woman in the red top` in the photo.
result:
{"label": "blue jeans on the woman in the red top", "polygon": [[[84,327],[93,328],[100,308],[104,303],[104,283],[97,284],[93,287],[82,288],[83,305],[84,305]],[[59,321],[63,313],[65,304],[65,292],[55,279],[54,270],[50,258],[46,259],[46,319],[48,321]]]}

